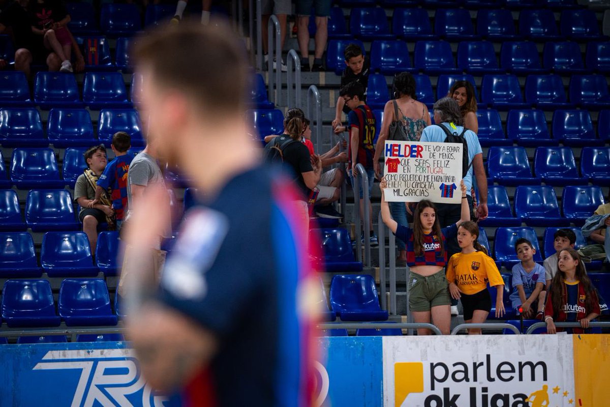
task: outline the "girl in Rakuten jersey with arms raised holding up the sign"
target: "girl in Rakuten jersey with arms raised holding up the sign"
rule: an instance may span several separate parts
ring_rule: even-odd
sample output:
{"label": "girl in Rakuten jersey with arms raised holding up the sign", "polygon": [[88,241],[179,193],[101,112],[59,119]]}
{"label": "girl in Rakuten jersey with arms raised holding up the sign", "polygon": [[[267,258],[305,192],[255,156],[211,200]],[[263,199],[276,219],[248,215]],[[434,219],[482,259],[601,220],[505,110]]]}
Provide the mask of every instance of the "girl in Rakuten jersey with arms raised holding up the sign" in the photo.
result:
{"label": "girl in Rakuten jersey with arms raised holding up the sign", "polygon": [[[390,207],[386,201],[386,178],[381,179],[381,217],[386,226],[406,243],[407,265],[409,273],[409,309],[415,322],[430,323],[431,321],[444,334],[450,333],[451,314],[445,264],[447,250],[445,240],[455,239],[458,225],[470,220],[470,207],[466,199],[466,186],[460,182],[462,189],[461,219],[448,226],[440,228],[436,217],[436,206],[429,200],[419,201],[413,214],[413,229],[399,225],[390,215]],[[430,330],[418,329],[418,335],[429,335]]]}

